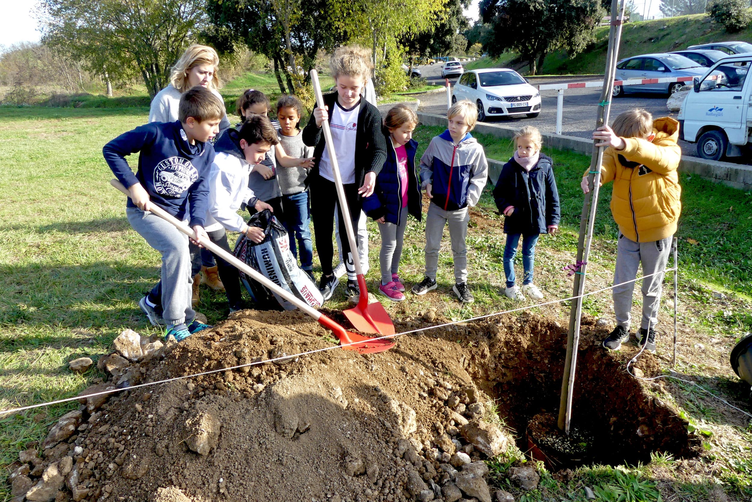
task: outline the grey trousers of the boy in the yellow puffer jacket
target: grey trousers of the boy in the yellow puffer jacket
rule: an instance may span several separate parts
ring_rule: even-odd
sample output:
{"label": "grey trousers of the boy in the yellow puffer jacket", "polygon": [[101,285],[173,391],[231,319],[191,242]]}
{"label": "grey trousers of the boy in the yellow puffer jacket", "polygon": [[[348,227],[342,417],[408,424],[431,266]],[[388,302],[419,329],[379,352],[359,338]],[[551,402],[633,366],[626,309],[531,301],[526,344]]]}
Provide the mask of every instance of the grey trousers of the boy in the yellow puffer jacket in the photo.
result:
{"label": "grey trousers of the boy in the yellow puffer jacket", "polygon": [[[634,242],[623,235],[619,235],[617,244],[616,270],[614,284],[632,281],[637,277],[637,269],[642,263],[642,275],[661,272],[666,269],[666,263],[671,254],[673,236],[660,241]],[[647,330],[658,324],[658,307],[663,284],[663,273],[642,279],[642,321],[640,327]],[[614,288],[614,313],[617,324],[629,331],[632,321],[632,292],[635,281],[622,284]]]}

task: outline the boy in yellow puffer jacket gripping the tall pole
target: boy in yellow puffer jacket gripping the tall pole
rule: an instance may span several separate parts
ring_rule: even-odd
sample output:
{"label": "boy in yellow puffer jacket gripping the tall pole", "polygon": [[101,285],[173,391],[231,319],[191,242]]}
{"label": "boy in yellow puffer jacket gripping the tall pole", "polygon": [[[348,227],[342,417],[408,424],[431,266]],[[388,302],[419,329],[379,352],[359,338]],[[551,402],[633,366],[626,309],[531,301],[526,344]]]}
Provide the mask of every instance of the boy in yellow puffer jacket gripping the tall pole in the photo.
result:
{"label": "boy in yellow puffer jacket gripping the tall pole", "polygon": [[[603,154],[601,184],[614,181],[611,214],[619,225],[614,284],[614,313],[617,326],[603,346],[618,350],[629,339],[632,292],[637,269],[643,275],[661,272],[669,260],[671,243],[681,213],[681,186],[677,172],[681,148],[677,144],[679,124],[670,117],[653,120],[642,109],[626,111],[614,120],[613,129],[600,127],[593,132]],[[590,191],[587,172],[581,183]],[[642,280],[642,320],[638,341],[655,352],[663,273]]]}

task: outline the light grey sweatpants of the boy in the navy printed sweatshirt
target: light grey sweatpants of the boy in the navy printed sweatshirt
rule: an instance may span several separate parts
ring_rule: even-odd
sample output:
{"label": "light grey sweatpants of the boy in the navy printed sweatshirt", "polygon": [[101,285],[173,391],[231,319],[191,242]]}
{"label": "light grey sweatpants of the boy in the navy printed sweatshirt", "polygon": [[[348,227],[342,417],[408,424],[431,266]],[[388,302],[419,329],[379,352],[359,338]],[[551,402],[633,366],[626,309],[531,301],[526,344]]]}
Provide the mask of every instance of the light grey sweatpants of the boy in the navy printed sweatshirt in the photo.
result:
{"label": "light grey sweatpants of the boy in the navy printed sweatshirt", "polygon": [[162,318],[167,324],[193,321],[193,293],[188,236],[168,222],[139,208],[126,208],[128,221],[138,235],[162,254]]}

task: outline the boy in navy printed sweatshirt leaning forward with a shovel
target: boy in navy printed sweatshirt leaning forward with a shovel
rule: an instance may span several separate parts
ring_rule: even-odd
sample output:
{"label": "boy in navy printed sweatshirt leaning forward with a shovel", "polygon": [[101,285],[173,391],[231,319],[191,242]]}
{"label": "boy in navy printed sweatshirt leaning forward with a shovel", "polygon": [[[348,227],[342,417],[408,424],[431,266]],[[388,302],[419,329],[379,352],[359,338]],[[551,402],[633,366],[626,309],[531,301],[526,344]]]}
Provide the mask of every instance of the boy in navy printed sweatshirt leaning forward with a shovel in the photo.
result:
{"label": "boy in navy printed sweatshirt leaning forward with a shovel", "polygon": [[[130,192],[126,204],[129,223],[162,254],[162,278],[138,305],[154,324],[159,318],[154,307],[161,300],[162,318],[167,324],[165,339],[172,335],[180,341],[209,326],[196,321],[191,307],[193,278],[188,237],[149,208],[157,205],[178,220],[189,220],[198,236],[195,243],[208,241],[204,221],[208,175],[214,161],[214,148],[209,141],[219,132],[224,114],[224,105],[217,96],[204,87],[194,87],[180,97],[176,122],[136,127],[102,149],[110,169]],[[138,171],[134,174],[125,157],[136,152]],[[186,205],[190,206],[188,211]]]}

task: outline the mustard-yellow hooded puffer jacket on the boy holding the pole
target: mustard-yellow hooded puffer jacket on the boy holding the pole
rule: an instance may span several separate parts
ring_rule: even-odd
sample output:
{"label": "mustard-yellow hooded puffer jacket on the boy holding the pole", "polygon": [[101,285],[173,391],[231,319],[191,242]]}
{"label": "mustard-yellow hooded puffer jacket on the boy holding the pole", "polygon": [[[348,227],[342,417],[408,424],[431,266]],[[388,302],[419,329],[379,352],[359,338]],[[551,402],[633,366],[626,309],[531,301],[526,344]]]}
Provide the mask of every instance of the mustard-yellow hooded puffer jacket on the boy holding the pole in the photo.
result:
{"label": "mustard-yellow hooded puffer jacket on the boy holding the pole", "polygon": [[609,147],[603,153],[602,182],[614,181],[611,214],[620,232],[634,242],[674,235],[681,213],[679,123],[657,118],[653,132],[652,142],[623,138],[623,150]]}

